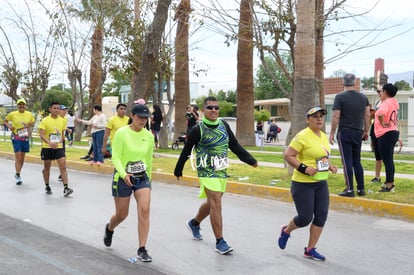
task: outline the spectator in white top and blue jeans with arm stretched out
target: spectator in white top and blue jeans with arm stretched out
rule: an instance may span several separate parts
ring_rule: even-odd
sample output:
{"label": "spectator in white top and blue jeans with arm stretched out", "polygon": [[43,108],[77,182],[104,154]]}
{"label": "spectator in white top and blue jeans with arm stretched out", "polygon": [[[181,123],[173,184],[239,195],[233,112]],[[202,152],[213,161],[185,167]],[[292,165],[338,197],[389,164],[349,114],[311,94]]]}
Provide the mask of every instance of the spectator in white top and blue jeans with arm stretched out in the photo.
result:
{"label": "spectator in white top and blue jeans with arm stretched out", "polygon": [[78,118],[77,121],[86,125],[92,125],[93,161],[91,164],[101,165],[104,162],[102,146],[104,144],[106,117],[102,113],[102,106],[98,104],[93,106],[93,113],[94,115],[90,120]]}

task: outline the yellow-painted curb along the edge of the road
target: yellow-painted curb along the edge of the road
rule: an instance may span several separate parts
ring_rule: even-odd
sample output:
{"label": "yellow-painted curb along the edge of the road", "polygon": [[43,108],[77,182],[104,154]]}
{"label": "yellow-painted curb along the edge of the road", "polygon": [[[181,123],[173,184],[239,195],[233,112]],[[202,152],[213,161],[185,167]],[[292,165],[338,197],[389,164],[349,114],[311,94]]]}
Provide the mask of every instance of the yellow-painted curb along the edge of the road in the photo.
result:
{"label": "yellow-painted curb along the edge of the road", "polygon": [[[4,159],[14,160],[14,153],[0,152],[0,157]],[[43,164],[43,161],[40,159],[40,157],[26,155],[25,160],[31,163]],[[57,166],[56,162],[53,162],[52,165]],[[114,171],[114,168],[110,165],[85,165],[84,161],[67,160],[66,166],[69,169],[93,173],[112,174]],[[180,180],[177,180],[176,177],[170,173],[153,172],[152,179],[164,183],[178,184],[187,187],[199,186],[197,177],[183,176]],[[288,188],[228,181],[226,192],[265,199],[276,199],[284,202],[292,202],[292,197]],[[411,204],[387,202],[358,197],[346,198],[331,194],[330,209],[414,221],[414,205]]]}

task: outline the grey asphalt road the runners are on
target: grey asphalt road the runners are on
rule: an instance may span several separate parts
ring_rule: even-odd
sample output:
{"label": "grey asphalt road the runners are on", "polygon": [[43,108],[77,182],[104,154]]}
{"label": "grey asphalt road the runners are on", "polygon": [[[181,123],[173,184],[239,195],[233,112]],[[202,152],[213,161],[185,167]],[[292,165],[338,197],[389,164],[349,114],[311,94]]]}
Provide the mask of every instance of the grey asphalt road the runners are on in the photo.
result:
{"label": "grey asphalt road the runners are on", "polygon": [[330,211],[318,244],[327,260],[316,262],[302,257],[308,228],[293,232],[285,250],[277,247],[280,226],[295,214],[292,203],[225,194],[224,237],[235,251],[222,256],[208,220],[202,241],[185,228],[201,202],[198,190],[161,182],[153,182],[147,244],[153,262],[131,264],[134,201],[112,247],[102,243],[114,211],[110,175],[69,170],[74,193],[64,198],[57,180],[54,194],[44,194],[41,169],[26,163],[24,183],[16,186],[14,162],[0,159],[0,274],[413,274],[413,222]]}

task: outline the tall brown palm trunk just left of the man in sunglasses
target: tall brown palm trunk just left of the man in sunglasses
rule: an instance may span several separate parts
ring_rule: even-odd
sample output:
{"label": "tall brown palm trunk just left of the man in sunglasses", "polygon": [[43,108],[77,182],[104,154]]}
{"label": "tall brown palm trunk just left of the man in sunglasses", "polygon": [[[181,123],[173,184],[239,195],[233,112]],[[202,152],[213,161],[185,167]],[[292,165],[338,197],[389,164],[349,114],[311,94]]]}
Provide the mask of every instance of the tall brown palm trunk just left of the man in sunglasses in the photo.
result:
{"label": "tall brown palm trunk just left of the man in sunglasses", "polygon": [[175,37],[175,129],[173,140],[187,131],[185,110],[190,104],[190,79],[188,67],[188,19],[191,13],[190,0],[181,0],[174,20],[177,20]]}

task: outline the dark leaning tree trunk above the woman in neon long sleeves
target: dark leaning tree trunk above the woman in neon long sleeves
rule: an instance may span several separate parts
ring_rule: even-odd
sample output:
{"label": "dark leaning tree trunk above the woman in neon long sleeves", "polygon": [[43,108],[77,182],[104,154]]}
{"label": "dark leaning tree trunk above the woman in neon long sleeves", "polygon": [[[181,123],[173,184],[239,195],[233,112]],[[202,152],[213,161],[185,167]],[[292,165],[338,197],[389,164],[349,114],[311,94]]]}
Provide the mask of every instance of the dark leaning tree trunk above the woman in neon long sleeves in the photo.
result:
{"label": "dark leaning tree trunk above the woman in neon long sleeves", "polygon": [[155,11],[154,20],[145,34],[144,51],[142,52],[142,63],[140,71],[132,90],[132,100],[128,103],[128,110],[133,106],[133,99],[147,99],[154,91],[154,80],[157,72],[158,57],[160,52],[161,38],[164,34],[165,23],[168,19],[168,10],[171,0],[159,0]]}

